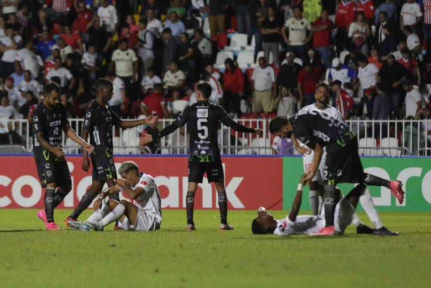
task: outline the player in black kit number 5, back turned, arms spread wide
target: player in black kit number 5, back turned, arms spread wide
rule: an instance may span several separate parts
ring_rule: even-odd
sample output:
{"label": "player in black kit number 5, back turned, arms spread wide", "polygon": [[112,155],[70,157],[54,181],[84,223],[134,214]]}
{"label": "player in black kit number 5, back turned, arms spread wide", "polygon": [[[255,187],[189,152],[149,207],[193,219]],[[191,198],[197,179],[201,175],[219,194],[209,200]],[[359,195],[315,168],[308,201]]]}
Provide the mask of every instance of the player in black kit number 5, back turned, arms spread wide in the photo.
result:
{"label": "player in black kit number 5, back turned, arms spread wide", "polygon": [[206,172],[208,182],[215,182],[218,204],[220,208],[220,230],[232,230],[234,227],[227,222],[228,204],[224,185],[224,172],[217,141],[219,122],[242,133],[262,135],[262,130],[252,129],[236,123],[221,106],[208,101],[211,95],[211,85],[200,82],[196,85],[197,102],[185,108],[183,113],[166,127],[156,137],[145,135],[139,141],[140,145],[148,144],[165,137],[188,123],[189,149],[188,159],[188,190],[185,198],[187,210],[187,230],[195,230],[193,222],[194,194],[198,183],[202,183]]}

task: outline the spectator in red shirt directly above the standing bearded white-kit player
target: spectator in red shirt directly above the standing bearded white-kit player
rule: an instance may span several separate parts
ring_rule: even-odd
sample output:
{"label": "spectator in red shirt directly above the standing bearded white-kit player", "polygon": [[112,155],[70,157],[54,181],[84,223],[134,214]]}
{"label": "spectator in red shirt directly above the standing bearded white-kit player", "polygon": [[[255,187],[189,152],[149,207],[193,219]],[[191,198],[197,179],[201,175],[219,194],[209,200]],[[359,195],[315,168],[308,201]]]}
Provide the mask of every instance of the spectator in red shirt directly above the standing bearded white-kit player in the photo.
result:
{"label": "spectator in red shirt directly above the standing bearded white-kit player", "polygon": [[313,104],[314,88],[322,78],[323,71],[320,66],[312,66],[308,61],[304,63],[303,69],[298,73],[298,92],[303,106]]}

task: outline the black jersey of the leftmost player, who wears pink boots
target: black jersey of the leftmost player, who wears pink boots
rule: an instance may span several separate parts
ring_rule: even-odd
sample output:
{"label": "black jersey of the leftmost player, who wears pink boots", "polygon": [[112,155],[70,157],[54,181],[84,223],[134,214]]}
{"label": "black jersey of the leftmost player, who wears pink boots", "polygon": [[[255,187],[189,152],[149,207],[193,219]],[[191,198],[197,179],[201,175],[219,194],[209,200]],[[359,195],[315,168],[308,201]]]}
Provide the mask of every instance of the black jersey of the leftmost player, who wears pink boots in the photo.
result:
{"label": "black jersey of the leftmost player, who wears pink boots", "polygon": [[62,127],[68,124],[66,107],[59,103],[53,109],[48,109],[43,102],[33,111],[33,150],[42,149],[36,134],[43,133],[44,139],[54,147],[62,146]]}

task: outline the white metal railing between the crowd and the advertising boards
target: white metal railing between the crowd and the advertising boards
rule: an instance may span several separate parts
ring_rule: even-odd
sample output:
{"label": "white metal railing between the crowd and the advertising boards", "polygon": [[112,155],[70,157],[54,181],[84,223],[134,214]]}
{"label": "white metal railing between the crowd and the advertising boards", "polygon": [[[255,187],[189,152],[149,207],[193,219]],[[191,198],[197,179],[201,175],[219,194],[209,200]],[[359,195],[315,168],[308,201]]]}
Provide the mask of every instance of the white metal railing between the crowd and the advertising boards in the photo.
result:
{"label": "white metal railing between the crowd and the advertising boards", "polygon": [[[161,130],[172,124],[175,119],[159,120],[158,129]],[[272,154],[271,144],[273,136],[268,132],[267,119],[238,119],[238,123],[263,130],[263,135],[244,134],[225,127],[220,123],[218,142],[222,154]],[[431,151],[431,120],[349,120],[350,129],[358,136],[359,153],[369,156],[404,156],[429,155]],[[70,126],[80,135],[83,119],[69,119]],[[139,136],[145,127],[130,129],[113,128],[115,154],[141,154],[142,147],[138,147]],[[12,132],[13,131],[13,132]],[[2,132],[2,133],[1,133]],[[20,143],[12,141],[12,133],[21,137]],[[8,136],[6,135],[8,133]],[[187,154],[188,136],[187,125],[177,129],[171,135],[161,139],[160,147],[154,153]],[[431,134],[431,132],[430,132]],[[3,135],[4,137],[1,137]],[[15,137],[16,138],[16,137]],[[18,144],[25,148],[26,153],[32,152],[31,126],[26,119],[0,121],[0,145]],[[81,147],[65,137],[63,143],[69,154],[81,153]],[[0,153],[5,153],[1,151]]]}

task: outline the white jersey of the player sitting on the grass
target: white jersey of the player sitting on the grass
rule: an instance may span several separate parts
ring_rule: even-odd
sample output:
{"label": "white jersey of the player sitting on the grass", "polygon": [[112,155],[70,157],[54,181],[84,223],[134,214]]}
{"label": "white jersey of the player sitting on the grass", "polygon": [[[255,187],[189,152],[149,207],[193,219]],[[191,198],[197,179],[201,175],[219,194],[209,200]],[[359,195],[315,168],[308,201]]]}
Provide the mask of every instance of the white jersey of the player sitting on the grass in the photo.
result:
{"label": "white jersey of the player sitting on the grass", "polygon": [[134,191],[138,187],[144,189],[145,192],[133,200],[132,203],[139,209],[144,210],[146,214],[153,216],[159,223],[162,222],[162,201],[154,178],[151,175],[141,173],[138,184],[130,187],[130,189]]}

